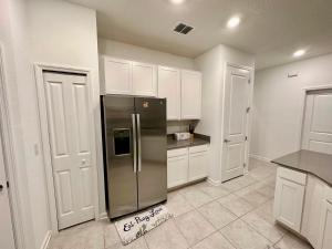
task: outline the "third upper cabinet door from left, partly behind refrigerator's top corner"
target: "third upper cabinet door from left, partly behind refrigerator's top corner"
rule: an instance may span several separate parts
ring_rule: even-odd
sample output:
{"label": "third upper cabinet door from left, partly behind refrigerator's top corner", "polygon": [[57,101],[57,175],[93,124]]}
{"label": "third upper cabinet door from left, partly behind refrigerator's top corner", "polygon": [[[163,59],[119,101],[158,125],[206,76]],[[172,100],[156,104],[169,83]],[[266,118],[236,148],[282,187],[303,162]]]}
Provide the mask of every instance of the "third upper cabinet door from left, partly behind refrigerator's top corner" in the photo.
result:
{"label": "third upper cabinet door from left, partly behind refrigerator's top corner", "polygon": [[167,98],[167,120],[180,120],[180,72],[158,68],[158,97]]}

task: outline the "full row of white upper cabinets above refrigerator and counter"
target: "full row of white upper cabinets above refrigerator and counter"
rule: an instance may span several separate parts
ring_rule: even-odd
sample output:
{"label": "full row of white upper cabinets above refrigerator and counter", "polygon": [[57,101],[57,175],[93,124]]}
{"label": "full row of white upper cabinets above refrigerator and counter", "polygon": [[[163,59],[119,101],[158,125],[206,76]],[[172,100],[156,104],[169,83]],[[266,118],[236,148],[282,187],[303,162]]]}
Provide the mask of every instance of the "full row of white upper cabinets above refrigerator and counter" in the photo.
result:
{"label": "full row of white upper cabinets above refrigerator and counter", "polygon": [[158,96],[167,98],[167,120],[200,120],[201,73],[101,58],[102,94]]}

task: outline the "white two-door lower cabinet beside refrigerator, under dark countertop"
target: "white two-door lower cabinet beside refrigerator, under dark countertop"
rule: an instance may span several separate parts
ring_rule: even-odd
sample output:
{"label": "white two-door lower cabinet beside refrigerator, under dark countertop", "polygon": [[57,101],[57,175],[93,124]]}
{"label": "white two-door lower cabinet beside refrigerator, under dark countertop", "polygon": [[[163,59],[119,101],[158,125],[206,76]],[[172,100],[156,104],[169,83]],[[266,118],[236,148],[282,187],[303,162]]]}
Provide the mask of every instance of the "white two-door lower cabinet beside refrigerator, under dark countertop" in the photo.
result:
{"label": "white two-door lower cabinet beside refrigerator, under dark countertop", "polygon": [[208,145],[167,152],[167,187],[207,177]]}

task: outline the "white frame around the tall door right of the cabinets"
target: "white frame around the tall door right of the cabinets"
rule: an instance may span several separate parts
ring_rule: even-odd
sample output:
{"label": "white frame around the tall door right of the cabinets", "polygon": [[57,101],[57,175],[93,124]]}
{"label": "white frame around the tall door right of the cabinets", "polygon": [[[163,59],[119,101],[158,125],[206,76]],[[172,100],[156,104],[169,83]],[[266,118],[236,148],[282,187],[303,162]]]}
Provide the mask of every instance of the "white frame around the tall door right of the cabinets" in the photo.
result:
{"label": "white frame around the tall door right of the cabinets", "polygon": [[220,158],[220,179],[222,183],[222,164],[225,162],[224,158],[224,137],[225,137],[225,131],[224,131],[224,124],[225,124],[225,103],[226,103],[226,76],[227,76],[227,68],[232,66],[236,69],[242,69],[242,70],[248,70],[250,74],[250,86],[249,86],[249,97],[248,97],[248,107],[250,108],[249,112],[247,113],[247,124],[246,124],[246,136],[247,136],[247,142],[245,143],[245,164],[246,167],[243,168],[243,174],[247,174],[249,172],[249,149],[250,149],[250,141],[251,141],[251,134],[250,134],[250,127],[251,127],[251,113],[252,113],[252,93],[253,93],[253,82],[255,82],[255,73],[253,73],[253,68],[251,66],[246,66],[246,65],[240,65],[231,62],[225,62],[224,65],[224,75],[222,75],[222,108],[221,108],[221,137],[220,137],[220,153],[221,153],[221,158]]}

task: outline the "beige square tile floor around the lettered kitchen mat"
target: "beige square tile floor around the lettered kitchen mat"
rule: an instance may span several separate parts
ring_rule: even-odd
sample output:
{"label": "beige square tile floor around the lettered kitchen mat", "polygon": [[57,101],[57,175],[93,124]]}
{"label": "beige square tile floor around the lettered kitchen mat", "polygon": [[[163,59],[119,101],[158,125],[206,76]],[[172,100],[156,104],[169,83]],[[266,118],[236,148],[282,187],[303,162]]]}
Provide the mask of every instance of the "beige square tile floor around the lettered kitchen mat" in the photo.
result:
{"label": "beige square tile floor around the lettered kitchen mat", "polygon": [[218,187],[205,181],[169,193],[174,218],[126,247],[104,219],[61,231],[49,249],[310,249],[273,221],[274,165],[251,159],[250,168]]}

